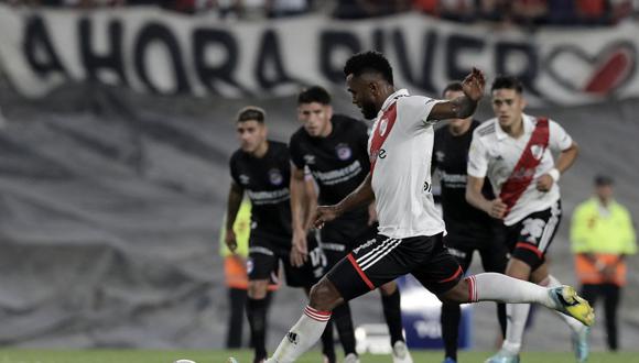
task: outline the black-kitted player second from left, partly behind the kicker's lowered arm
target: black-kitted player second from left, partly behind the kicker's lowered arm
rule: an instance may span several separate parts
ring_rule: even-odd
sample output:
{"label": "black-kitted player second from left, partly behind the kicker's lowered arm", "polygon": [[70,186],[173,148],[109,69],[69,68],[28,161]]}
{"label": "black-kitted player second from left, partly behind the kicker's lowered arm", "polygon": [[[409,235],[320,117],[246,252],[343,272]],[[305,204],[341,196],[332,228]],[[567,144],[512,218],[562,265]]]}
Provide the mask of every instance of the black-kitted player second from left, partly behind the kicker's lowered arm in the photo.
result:
{"label": "black-kitted player second from left, partly behind the kicker's lowered arm", "polygon": [[[367,153],[368,131],[364,122],[342,114],[333,114],[331,95],[322,87],[304,89],[297,97],[297,118],[302,127],[290,141],[291,209],[293,212],[293,245],[297,263],[306,254],[305,237],[310,226],[304,226],[301,210],[304,168],[308,168],[320,189],[320,202],[336,204],[366,178],[370,170]],[[369,213],[369,209],[372,213]],[[318,242],[331,268],[360,242],[377,234],[375,207],[361,206],[324,226]],[[400,292],[394,282],[380,286],[383,315],[390,331],[394,363],[411,363],[403,339]],[[345,362],[358,362],[350,308],[343,304],[335,309],[335,322],[344,346]],[[332,330],[331,326],[328,328]]]}

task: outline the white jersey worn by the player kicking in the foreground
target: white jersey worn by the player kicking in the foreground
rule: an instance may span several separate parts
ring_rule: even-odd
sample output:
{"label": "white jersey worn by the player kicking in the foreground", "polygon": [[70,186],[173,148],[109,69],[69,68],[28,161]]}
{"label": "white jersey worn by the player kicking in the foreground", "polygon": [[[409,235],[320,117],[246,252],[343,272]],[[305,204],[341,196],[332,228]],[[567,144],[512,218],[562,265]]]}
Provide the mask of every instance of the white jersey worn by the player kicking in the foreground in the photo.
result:
{"label": "white jersey worn by the player kicking in the foreground", "polygon": [[435,100],[405,89],[383,103],[368,139],[379,233],[393,239],[445,232],[431,194]]}

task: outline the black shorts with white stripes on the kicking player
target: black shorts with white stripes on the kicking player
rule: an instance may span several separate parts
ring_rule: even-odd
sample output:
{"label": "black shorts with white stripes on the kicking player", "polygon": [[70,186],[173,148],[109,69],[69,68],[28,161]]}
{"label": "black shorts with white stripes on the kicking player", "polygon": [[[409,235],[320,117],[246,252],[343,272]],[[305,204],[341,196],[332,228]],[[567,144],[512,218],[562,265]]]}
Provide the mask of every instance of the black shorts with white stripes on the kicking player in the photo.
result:
{"label": "black shorts with white stripes on the kicking player", "polygon": [[405,274],[435,295],[453,288],[464,275],[444,248],[441,233],[407,239],[378,234],[342,258],[326,278],[350,300]]}

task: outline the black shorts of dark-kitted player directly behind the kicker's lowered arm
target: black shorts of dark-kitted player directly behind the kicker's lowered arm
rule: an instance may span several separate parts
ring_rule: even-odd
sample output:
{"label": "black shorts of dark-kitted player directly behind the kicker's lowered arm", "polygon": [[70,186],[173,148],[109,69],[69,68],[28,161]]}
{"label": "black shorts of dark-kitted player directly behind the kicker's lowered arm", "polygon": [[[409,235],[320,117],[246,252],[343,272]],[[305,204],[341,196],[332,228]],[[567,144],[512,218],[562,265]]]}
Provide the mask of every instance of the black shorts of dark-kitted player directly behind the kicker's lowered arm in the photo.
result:
{"label": "black shorts of dark-kitted player directly behind the kicker's lowered arm", "polygon": [[335,266],[353,249],[377,237],[377,223],[368,226],[368,220],[348,220],[326,223],[317,231],[316,238],[326,256],[327,267]]}

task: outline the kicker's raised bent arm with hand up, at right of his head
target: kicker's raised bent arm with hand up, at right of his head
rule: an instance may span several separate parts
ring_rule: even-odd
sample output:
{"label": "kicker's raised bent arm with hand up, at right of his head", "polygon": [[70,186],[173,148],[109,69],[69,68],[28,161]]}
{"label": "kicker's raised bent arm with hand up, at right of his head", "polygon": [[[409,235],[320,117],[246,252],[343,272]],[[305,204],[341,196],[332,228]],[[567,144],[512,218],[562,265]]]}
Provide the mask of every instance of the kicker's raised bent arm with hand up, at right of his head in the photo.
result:
{"label": "kicker's raised bent arm with hand up, at right of his head", "polygon": [[473,68],[473,72],[462,82],[464,90],[464,96],[457,97],[450,101],[441,101],[433,106],[431,113],[429,113],[427,120],[446,120],[446,119],[466,119],[475,113],[477,109],[477,103],[484,96],[484,86],[486,85],[486,79],[484,78],[484,73],[477,68]]}

